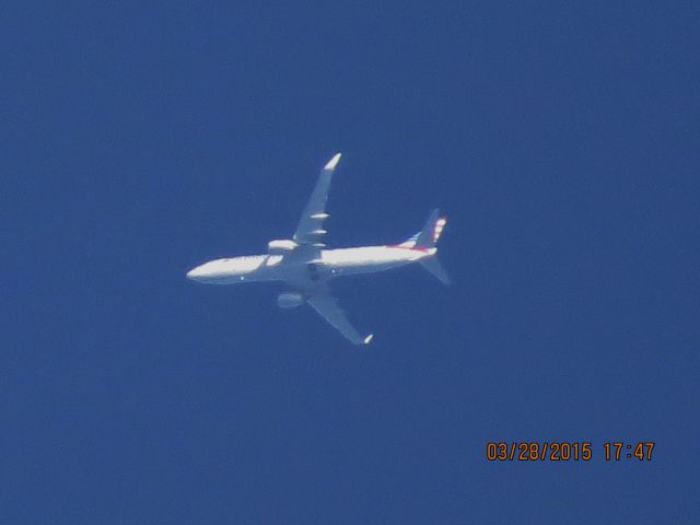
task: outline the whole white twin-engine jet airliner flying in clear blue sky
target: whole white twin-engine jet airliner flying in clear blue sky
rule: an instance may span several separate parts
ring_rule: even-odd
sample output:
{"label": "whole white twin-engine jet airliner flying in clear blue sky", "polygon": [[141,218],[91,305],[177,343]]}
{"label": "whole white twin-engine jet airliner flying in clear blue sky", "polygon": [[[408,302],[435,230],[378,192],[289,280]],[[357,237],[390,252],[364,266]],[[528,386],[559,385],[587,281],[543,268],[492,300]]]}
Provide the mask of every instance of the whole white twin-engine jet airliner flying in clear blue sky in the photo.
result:
{"label": "whole white twin-engine jet airliner flying in clear blue sky", "polygon": [[324,242],[328,219],[326,203],[334,172],[340,161],[337,153],[324,166],[292,238],[268,243],[268,253],[210,260],[187,272],[187,278],[208,284],[281,281],[289,290],[277,304],[294,308],[308,304],[334,328],[354,345],[369,345],[374,335],[361,336],[330,294],[329,281],[343,276],[384,271],[420,262],[444,284],[450,278],[436,258],[435,244],[446,219],[434,210],[423,229],[400,244],[327,249]]}

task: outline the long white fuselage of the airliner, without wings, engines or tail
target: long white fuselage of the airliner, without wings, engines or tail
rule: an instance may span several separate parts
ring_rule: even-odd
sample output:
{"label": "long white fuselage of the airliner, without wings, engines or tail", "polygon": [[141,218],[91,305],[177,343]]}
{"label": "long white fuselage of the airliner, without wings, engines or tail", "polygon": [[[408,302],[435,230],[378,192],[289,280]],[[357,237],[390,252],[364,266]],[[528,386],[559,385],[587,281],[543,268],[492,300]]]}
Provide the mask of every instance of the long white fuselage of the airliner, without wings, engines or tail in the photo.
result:
{"label": "long white fuselage of the airliner, without wings, engines or tail", "polygon": [[189,279],[211,284],[283,281],[304,289],[318,281],[355,273],[384,271],[435,255],[436,248],[362,246],[320,249],[313,258],[296,252],[283,255],[249,255],[210,260],[187,273]]}

